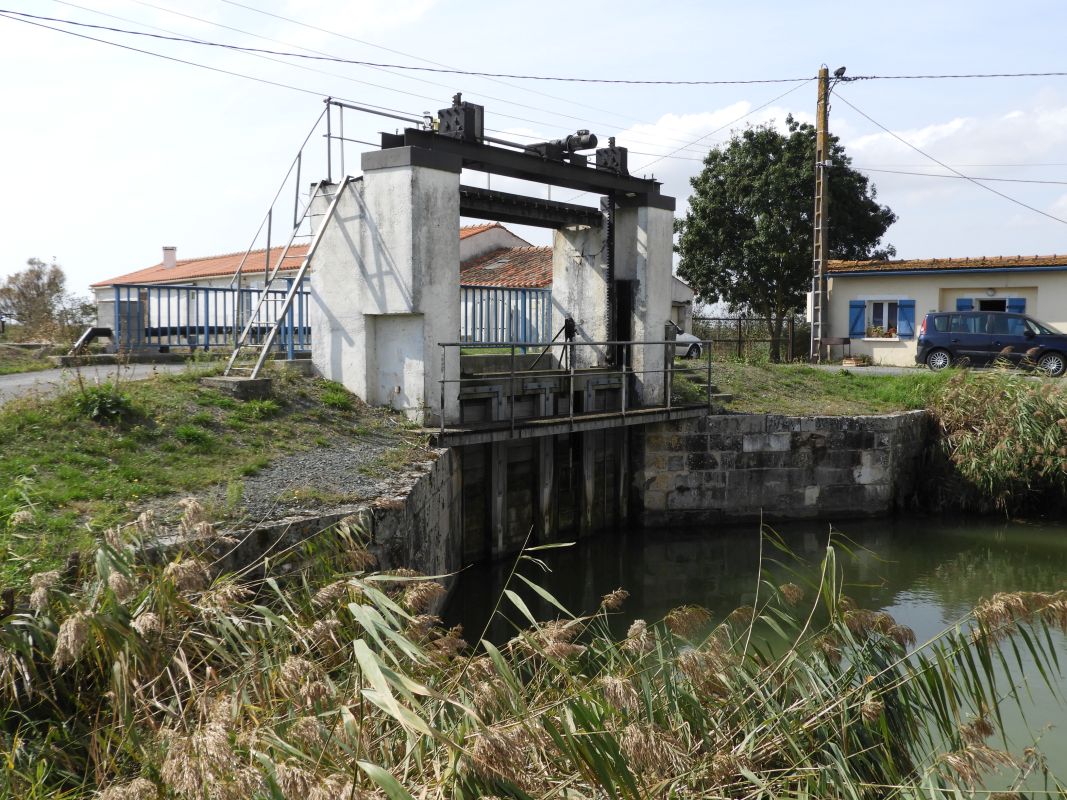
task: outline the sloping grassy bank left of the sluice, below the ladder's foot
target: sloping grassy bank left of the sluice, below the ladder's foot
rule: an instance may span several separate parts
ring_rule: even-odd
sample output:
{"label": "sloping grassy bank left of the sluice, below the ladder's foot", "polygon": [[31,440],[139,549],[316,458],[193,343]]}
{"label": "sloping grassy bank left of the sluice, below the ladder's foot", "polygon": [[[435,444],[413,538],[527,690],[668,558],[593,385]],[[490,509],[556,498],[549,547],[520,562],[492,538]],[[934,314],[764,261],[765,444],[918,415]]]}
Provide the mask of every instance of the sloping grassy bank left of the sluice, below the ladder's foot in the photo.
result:
{"label": "sloping grassy bank left of the sluice, below the ladder's foot", "polygon": [[[397,430],[386,412],[354,399],[347,409],[325,404],[323,395],[335,388],[285,373],[275,378],[274,397],[248,402],[189,374],[120,390],[130,411],[111,420],[79,411],[77,388],[0,411],[0,485],[7,487],[0,494],[0,580],[19,581],[34,561],[34,569],[61,563],[153,498],[239,481],[288,452],[355,438],[356,430]],[[398,453],[410,452],[405,439],[397,442]],[[397,466],[397,458],[383,459],[382,467]],[[22,510],[32,518],[20,514],[12,524]]]}

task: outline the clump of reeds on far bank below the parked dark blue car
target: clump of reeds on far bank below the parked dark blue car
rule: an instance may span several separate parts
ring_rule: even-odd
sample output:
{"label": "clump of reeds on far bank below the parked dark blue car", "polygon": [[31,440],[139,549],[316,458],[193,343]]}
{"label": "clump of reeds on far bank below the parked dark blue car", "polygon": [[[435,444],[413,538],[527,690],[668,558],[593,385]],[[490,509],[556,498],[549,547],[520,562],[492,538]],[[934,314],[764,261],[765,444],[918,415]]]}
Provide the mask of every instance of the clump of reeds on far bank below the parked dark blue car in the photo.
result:
{"label": "clump of reeds on far bank below the parked dark blue car", "polygon": [[1060,511],[1067,490],[1067,395],[1048,380],[960,371],[930,399],[952,465],[944,491],[965,506]]}

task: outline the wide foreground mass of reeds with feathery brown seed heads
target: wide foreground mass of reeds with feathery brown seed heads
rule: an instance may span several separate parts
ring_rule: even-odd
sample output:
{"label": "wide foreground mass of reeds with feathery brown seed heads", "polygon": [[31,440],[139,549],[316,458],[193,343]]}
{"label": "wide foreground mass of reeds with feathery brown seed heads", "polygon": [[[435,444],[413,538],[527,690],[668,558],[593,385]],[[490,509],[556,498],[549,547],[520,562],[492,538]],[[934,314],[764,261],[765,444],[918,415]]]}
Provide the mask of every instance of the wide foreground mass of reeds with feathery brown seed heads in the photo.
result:
{"label": "wide foreground mass of reeds with feathery brown seed heads", "polygon": [[1067,592],[998,595],[915,646],[840,593],[830,546],[811,586],[763,582],[724,620],[682,607],[619,639],[626,592],[573,615],[532,548],[512,580],[558,619],[509,588],[514,638],[468,644],[428,613],[442,587],[371,572],[350,526],[217,574],[235,543],[195,502],[184,524],[197,547],[160,559],[142,516],[9,596],[6,796],[940,796],[1032,766],[989,741],[1020,651],[1052,684],[1046,634],[1067,628]]}

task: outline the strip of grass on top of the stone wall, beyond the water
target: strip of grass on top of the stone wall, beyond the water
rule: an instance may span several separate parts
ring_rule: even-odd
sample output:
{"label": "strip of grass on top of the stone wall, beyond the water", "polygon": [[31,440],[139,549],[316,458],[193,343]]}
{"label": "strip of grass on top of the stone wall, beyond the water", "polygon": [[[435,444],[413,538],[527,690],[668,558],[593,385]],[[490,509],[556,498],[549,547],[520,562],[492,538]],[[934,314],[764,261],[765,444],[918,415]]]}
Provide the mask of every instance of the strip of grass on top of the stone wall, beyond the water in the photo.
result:
{"label": "strip of grass on top of the stone wall, beyond the water", "polygon": [[956,370],[905,374],[815,369],[796,364],[716,362],[712,382],[733,395],[730,410],[750,414],[889,414],[928,407]]}

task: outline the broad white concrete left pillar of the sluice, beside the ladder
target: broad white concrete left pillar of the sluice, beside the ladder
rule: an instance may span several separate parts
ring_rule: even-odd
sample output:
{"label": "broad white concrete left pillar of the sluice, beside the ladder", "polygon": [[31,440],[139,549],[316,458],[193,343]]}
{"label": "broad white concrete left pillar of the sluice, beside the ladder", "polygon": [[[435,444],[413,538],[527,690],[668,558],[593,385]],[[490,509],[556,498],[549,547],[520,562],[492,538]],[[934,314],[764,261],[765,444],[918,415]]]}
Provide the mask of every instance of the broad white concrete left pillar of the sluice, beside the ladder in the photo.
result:
{"label": "broad white concrete left pillar of the sluice, beside the ladder", "polygon": [[[459,418],[439,342],[459,336],[460,161],[415,147],[363,155],[312,265],[312,361],[372,405]],[[317,209],[316,209],[317,210]],[[459,351],[445,373],[459,375]]]}

